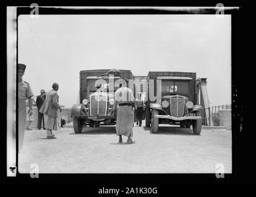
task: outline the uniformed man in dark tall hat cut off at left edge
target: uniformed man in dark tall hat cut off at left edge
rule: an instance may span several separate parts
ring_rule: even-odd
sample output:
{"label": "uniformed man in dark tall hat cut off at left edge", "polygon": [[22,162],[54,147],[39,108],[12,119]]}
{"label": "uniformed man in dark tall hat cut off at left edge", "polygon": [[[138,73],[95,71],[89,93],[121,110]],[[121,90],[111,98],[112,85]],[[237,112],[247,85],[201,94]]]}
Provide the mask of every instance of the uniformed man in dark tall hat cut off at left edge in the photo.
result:
{"label": "uniformed man in dark tall hat cut off at left edge", "polygon": [[28,116],[32,116],[32,97],[33,92],[30,84],[23,81],[22,77],[25,73],[26,65],[19,63],[17,65],[18,72],[18,112],[19,112],[19,150],[23,148],[23,139],[25,132],[25,123],[27,118],[26,100],[28,99]]}

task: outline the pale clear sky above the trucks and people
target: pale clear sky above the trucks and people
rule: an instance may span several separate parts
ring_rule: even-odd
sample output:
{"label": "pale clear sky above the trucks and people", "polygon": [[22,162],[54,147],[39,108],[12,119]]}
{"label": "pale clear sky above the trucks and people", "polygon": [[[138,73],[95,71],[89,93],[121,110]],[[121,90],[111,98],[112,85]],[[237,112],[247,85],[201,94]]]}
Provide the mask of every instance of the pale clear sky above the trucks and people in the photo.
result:
{"label": "pale clear sky above the trucks and people", "polygon": [[195,72],[211,106],[230,105],[231,16],[20,15],[18,62],[34,95],[58,82],[66,107],[77,103],[80,70],[112,68]]}

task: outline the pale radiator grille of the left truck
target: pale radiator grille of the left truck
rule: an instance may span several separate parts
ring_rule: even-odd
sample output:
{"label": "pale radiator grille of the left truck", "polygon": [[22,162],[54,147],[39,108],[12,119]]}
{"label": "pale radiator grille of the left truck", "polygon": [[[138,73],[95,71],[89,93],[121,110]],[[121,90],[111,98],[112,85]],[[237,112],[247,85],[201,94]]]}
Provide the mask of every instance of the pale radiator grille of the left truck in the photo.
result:
{"label": "pale radiator grille of the left truck", "polygon": [[90,96],[90,115],[106,116],[107,102],[108,102],[108,95],[105,95],[105,94],[91,95]]}

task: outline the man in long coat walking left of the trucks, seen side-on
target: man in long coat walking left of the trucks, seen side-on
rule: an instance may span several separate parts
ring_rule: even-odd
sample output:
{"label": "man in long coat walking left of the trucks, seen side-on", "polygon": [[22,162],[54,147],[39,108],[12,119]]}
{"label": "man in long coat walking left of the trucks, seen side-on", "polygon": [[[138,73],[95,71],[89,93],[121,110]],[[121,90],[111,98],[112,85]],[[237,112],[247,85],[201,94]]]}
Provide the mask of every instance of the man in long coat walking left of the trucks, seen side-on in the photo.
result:
{"label": "man in long coat walking left of the trucks, seen side-on", "polygon": [[59,90],[59,84],[54,82],[53,83],[53,89],[46,92],[45,95],[45,101],[43,102],[43,105],[40,108],[40,113],[43,113],[44,115],[48,116],[47,122],[46,122],[46,138],[48,139],[54,139],[56,138],[53,134],[53,130],[58,129],[58,109],[61,112],[61,106],[59,105],[59,95],[57,94],[57,91]]}

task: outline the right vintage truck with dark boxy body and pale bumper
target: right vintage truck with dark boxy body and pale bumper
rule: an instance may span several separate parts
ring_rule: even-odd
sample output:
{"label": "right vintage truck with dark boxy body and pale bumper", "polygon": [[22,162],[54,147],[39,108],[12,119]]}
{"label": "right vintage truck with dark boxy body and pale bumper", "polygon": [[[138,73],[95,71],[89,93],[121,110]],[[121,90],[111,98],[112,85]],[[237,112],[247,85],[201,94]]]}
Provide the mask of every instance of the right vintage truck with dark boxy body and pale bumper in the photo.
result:
{"label": "right vintage truck with dark boxy body and pale bumper", "polygon": [[[158,132],[158,124],[176,124],[199,135],[203,108],[198,105],[196,73],[151,71],[147,76],[146,127]],[[151,87],[150,87],[151,84]],[[155,100],[151,97],[156,97]]]}

